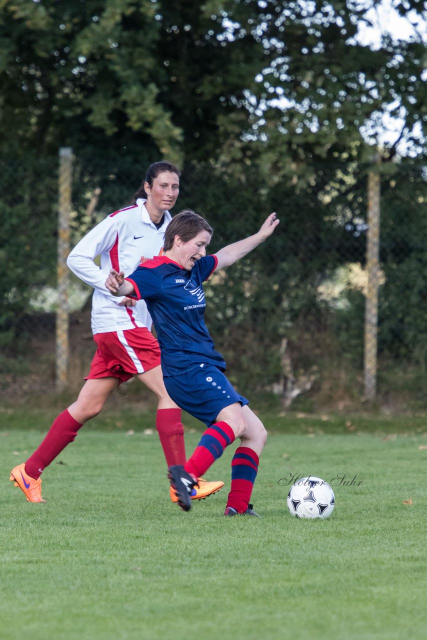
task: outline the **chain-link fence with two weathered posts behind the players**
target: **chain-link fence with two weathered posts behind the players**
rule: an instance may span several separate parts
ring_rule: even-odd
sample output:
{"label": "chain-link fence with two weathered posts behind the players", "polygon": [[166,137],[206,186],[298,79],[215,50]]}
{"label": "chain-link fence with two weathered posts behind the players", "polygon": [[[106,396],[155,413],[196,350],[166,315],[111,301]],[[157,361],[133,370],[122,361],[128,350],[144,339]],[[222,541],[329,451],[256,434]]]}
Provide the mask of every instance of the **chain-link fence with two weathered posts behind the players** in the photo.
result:
{"label": "chain-link fence with two weathered posts behind the players", "polygon": [[[3,160],[0,256],[10,275],[0,318],[3,390],[81,383],[94,351],[90,289],[68,273],[68,246],[131,202],[149,163],[72,160],[64,150],[25,164]],[[254,186],[256,171],[234,179],[189,166],[175,207],[206,215],[213,251],[278,212],[270,241],[207,284],[207,323],[231,380],[285,406],[309,394],[344,408],[349,397],[375,398],[377,380],[389,404],[394,392],[400,402],[421,396],[425,175],[409,162],[339,171],[316,168],[311,181],[268,188]]]}

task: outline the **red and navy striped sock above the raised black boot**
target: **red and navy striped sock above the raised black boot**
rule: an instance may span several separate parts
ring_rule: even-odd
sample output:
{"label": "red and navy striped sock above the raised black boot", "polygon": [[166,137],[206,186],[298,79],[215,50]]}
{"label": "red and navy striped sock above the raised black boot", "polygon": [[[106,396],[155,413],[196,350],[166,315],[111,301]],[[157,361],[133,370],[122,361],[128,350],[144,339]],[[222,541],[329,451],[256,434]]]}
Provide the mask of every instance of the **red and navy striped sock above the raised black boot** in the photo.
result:
{"label": "red and navy striped sock above the raised black boot", "polygon": [[225,447],[234,442],[234,438],[234,431],[227,422],[211,424],[184,469],[192,476],[203,476],[211,464],[222,456]]}

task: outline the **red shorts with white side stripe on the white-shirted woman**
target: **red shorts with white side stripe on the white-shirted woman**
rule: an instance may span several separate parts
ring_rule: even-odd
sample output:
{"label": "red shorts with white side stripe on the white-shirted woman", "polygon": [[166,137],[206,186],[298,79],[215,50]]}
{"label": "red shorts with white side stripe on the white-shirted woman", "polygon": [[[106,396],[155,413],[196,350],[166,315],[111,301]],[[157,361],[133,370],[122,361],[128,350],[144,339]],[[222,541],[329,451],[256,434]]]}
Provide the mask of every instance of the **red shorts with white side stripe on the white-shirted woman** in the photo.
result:
{"label": "red shorts with white side stripe on the white-shirted woman", "polygon": [[93,340],[98,348],[85,380],[118,378],[125,382],[160,364],[159,343],[146,327],[96,333]]}

